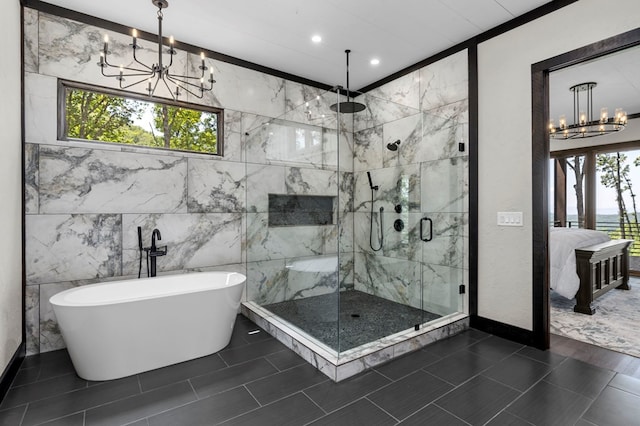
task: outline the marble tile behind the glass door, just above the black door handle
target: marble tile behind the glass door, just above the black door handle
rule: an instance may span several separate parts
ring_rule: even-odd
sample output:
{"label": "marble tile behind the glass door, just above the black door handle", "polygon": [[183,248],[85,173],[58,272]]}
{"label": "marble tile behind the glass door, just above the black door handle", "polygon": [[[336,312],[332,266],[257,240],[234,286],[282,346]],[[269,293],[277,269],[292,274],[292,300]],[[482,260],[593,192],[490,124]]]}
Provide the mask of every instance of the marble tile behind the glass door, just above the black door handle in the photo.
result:
{"label": "marble tile behind the glass door, just above the black door handle", "polygon": [[464,212],[469,205],[467,157],[421,164],[421,211]]}

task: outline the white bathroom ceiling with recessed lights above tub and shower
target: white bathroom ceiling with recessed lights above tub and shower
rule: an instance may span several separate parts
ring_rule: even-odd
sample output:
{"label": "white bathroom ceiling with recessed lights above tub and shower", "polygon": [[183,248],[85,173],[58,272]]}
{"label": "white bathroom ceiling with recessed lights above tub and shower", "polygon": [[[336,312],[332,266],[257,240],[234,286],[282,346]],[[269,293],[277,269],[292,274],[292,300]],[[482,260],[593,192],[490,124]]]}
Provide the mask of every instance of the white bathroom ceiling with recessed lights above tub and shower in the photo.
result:
{"label": "white bathroom ceiling with recessed lights above tub and shower", "polygon": [[[156,34],[151,0],[48,0]],[[327,84],[360,89],[548,0],[169,0],[163,33]],[[314,44],[311,36],[322,37]],[[380,64],[370,65],[372,58]]]}

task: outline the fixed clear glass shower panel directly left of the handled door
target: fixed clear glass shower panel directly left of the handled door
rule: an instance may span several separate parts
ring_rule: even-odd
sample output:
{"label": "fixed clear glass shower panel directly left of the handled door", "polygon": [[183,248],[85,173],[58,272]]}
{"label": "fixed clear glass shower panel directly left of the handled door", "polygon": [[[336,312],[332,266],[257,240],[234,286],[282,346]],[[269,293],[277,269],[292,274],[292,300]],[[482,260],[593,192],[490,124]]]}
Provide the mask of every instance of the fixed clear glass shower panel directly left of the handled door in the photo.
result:
{"label": "fixed clear glass shower panel directly left of the handled door", "polygon": [[[369,94],[353,126],[353,289],[341,294],[340,352],[413,329],[422,311],[422,114]],[[371,346],[371,345],[369,345]],[[346,354],[348,356],[349,354]]]}

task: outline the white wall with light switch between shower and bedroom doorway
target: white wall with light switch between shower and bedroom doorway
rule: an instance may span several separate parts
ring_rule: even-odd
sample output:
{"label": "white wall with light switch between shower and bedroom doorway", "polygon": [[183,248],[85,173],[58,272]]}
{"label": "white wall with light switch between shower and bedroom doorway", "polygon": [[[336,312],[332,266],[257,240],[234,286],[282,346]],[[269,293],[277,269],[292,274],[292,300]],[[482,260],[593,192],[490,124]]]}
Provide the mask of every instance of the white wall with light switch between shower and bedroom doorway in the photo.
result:
{"label": "white wall with light switch between shower and bedroom doorway", "polygon": [[[581,0],[478,46],[478,315],[532,329],[531,65],[634,29],[640,2]],[[498,227],[496,212],[524,212]]]}

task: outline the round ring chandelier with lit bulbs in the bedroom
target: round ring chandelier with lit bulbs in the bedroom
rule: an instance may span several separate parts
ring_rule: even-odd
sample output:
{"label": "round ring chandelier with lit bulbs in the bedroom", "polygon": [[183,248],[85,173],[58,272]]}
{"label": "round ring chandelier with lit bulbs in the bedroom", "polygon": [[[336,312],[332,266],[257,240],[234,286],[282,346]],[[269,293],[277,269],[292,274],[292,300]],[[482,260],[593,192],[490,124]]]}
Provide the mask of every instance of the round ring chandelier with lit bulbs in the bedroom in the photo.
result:
{"label": "round ring chandelier with lit bulbs in the bedroom", "polygon": [[[573,123],[567,124],[567,118],[561,115],[558,127],[549,121],[549,134],[553,139],[591,138],[623,130],[627,125],[627,113],[616,108],[613,117],[606,107],[600,109],[600,118],[593,119],[593,88],[597,83],[588,82],[571,86],[573,92]],[[582,99],[580,94],[583,94]]]}

